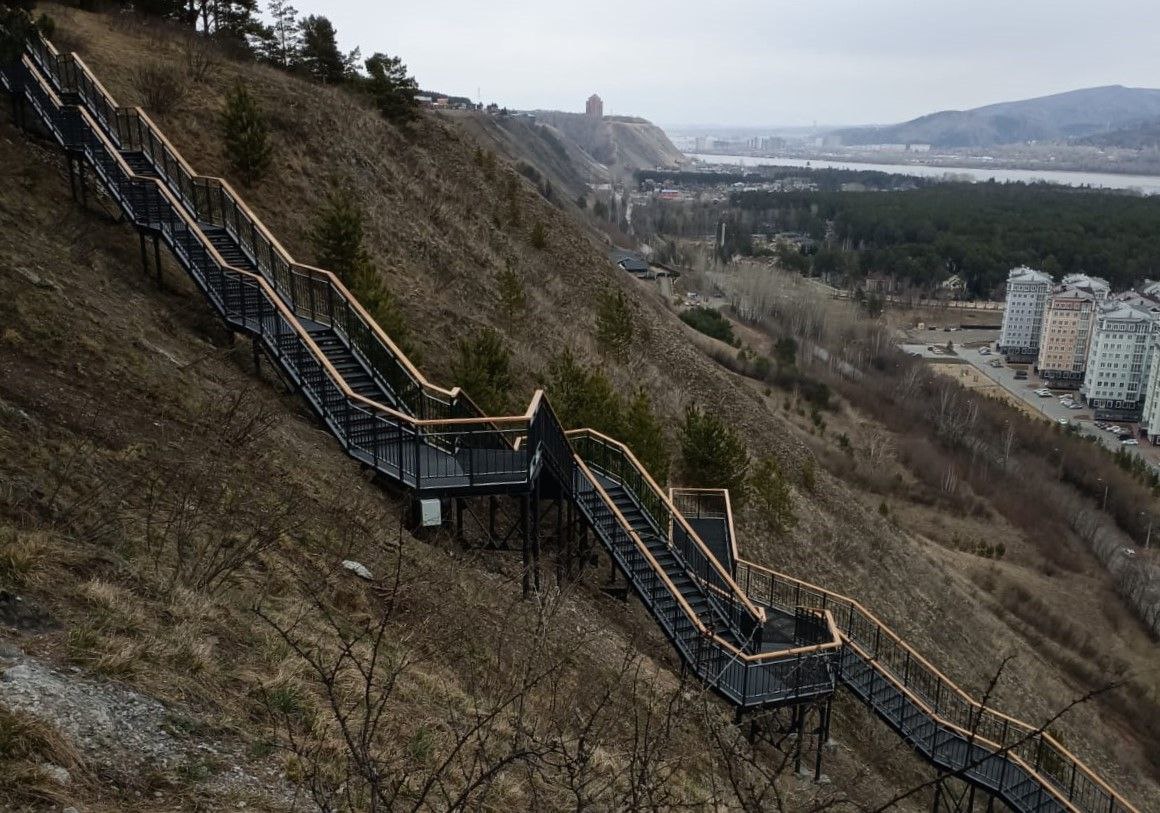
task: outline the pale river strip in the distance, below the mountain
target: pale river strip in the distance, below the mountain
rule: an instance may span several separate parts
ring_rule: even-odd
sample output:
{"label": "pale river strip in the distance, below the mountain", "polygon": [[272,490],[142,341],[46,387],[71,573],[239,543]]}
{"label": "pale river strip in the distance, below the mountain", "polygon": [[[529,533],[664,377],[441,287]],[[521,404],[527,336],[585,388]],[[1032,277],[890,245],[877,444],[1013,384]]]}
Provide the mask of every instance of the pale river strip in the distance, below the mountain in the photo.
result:
{"label": "pale river strip in the distance, below the mountain", "polygon": [[1160,176],[1155,175],[1121,175],[1099,172],[1061,172],[1058,169],[999,169],[989,167],[931,167],[925,164],[858,164],[857,161],[831,161],[825,159],[804,158],[754,158],[753,155],[705,155],[689,153],[705,164],[724,164],[728,166],[771,166],[802,167],[813,169],[853,169],[858,172],[885,172],[894,175],[913,175],[915,177],[955,176],[956,180],[1000,181],[1003,183],[1034,183],[1046,181],[1065,187],[1095,187],[1100,189],[1129,189],[1144,195],[1160,195]]}

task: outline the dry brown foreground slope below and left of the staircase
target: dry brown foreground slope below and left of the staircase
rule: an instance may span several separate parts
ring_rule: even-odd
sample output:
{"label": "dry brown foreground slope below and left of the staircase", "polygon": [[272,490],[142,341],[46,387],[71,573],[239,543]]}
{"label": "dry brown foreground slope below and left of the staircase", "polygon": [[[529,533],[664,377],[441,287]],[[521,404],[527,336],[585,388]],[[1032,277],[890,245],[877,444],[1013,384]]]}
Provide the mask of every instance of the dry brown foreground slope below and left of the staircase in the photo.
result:
{"label": "dry brown foreground slope below and left of the staircase", "polygon": [[[737,805],[717,753],[742,747],[728,710],[681,687],[639,604],[595,572],[522,601],[517,554],[404,532],[404,501],[255,372],[172,263],[164,288],[144,274],[111,203],[77,206],[61,157],[5,119],[0,186],[0,807],[313,808],[311,767],[342,748],[263,618],[331,652],[324,614],[353,636],[385,607],[400,668],[380,764],[414,793],[499,709],[462,768],[513,732],[536,760],[500,771],[496,810],[614,807],[641,777],[661,807]],[[321,726],[320,753],[289,753],[287,720]],[[843,747],[827,770],[860,764]]]}

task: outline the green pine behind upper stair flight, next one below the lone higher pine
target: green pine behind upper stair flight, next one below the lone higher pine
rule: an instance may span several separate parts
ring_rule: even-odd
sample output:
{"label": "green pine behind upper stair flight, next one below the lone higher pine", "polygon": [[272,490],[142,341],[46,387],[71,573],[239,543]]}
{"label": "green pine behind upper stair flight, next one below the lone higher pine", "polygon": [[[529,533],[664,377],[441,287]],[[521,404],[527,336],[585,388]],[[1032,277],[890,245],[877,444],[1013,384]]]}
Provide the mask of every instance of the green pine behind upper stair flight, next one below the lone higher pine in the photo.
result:
{"label": "green pine behind upper stair flight, next one below the lone higher pine", "polygon": [[363,212],[346,187],[331,193],[311,232],[318,264],[342,280],[379,327],[409,350],[407,325],[363,245]]}

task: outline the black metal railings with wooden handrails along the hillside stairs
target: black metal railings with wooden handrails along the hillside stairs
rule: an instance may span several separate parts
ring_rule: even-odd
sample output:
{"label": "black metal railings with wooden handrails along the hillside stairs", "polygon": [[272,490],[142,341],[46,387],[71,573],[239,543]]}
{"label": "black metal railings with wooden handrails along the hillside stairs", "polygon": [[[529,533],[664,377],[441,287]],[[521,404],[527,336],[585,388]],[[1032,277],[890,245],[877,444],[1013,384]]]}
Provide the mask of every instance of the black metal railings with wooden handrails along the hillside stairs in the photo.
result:
{"label": "black metal railings with wooden handrails along the hillside stairs", "polygon": [[[734,582],[622,444],[596,433],[566,435],[541,393],[528,414],[493,419],[462,393],[429,385],[368,324],[333,276],[295,264],[227,184],[189,173],[147,118],[123,114],[84,63],[57,55],[44,41],[30,43],[29,51],[31,60],[0,67],[3,85],[29,102],[63,146],[84,157],[129,219],[166,244],[222,318],[261,343],[348,453],[419,493],[433,494],[529,487],[538,467],[546,466],[681,658],[733,703],[748,707],[825,694],[833,690],[840,668],[842,680],[898,731],[928,742],[921,748],[933,761],[954,768],[967,764],[962,760],[971,758],[971,749],[989,749],[985,758],[974,760],[986,765],[979,768],[979,781],[995,782],[1016,806],[1021,794],[1044,801],[1047,791],[1081,811],[1134,813],[1050,734],[974,702],[856,602],[741,560]],[[84,108],[65,103],[60,94],[75,94]],[[165,177],[136,175],[121,154],[126,150],[151,154]],[[203,223],[230,232],[260,273],[222,260]],[[364,358],[374,360],[408,408],[387,408],[353,393],[303,319],[347,336]],[[759,604],[790,612],[807,608],[828,614],[841,630],[841,662],[838,641],[755,654],[711,634],[603,492],[593,469],[631,492],[657,529],[669,529],[674,556],[718,605],[728,608],[742,636],[746,623],[752,629],[763,618]]]}

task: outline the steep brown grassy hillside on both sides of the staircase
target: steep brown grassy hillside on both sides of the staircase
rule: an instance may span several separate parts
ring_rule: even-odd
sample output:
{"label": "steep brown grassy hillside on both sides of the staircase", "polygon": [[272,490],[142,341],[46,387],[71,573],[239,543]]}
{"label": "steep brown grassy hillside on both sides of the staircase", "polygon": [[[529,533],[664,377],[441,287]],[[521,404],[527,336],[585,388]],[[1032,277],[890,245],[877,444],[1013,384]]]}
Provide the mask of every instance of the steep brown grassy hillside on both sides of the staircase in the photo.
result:
{"label": "steep brown grassy hillside on both sides of the staircase", "polygon": [[[48,9],[61,44],[78,50],[123,104],[143,101],[143,61],[182,71],[183,46],[164,29]],[[558,351],[571,348],[599,362],[595,303],[612,288],[632,303],[641,336],[626,363],[607,368],[614,383],[625,391],[648,387],[674,421],[694,401],[719,412],[755,456],[775,456],[786,471],[812,457],[806,431],[781,409],[782,393],[767,394],[711,361],[689,328],[650,289],[610,267],[566,212],[512,168],[479,166],[476,143],[444,121],[425,117],[400,132],[341,90],[219,57],[204,80],[188,82],[172,110],[154,116],[198,172],[229,174],[217,118],[238,81],[261,101],[274,128],[274,164],[244,190],[248,203],[310,262],[307,234],[327,190],[355,186],[369,213],[372,257],[404,305],[421,364],[435,380],[454,384],[447,373],[455,340],[481,326],[513,347],[529,397]],[[61,691],[45,677],[39,699],[0,691],[0,706],[30,712],[50,728],[42,732],[41,752],[6,770],[64,765],[71,784],[37,775],[36,792],[94,810],[179,810],[194,799],[287,807],[296,791],[303,796],[310,774],[300,756],[276,748],[276,724],[317,712],[318,702],[311,675],[275,629],[304,607],[343,618],[375,616],[391,580],[371,589],[338,567],[356,559],[376,576],[396,567],[401,573],[389,629],[392,646],[418,655],[403,670],[385,725],[393,741],[406,743],[398,761],[412,778],[434,770],[449,732],[459,731],[472,709],[498,703],[550,665],[551,690],[535,687],[521,705],[527,717],[512,725],[536,741],[567,743],[582,732],[574,710],[599,711],[599,745],[586,763],[597,777],[585,791],[592,806],[632,806],[625,794],[643,791],[626,779],[626,764],[645,765],[639,770],[676,794],[639,798],[638,807],[740,804],[726,778],[735,764],[723,754],[746,747],[727,710],[698,705],[691,689],[677,691],[675,659],[638,604],[601,595],[603,574],[594,572],[559,596],[523,602],[516,559],[400,531],[400,502],[365,482],[269,373],[255,376],[248,349],[230,346],[175,268],[167,269],[165,290],[142,276],[136,237],[110,222],[110,203],[104,211],[100,201],[78,210],[60,157],[7,119],[0,152],[0,572],[5,595],[21,597],[20,611],[6,609],[2,654],[6,665],[28,673],[56,669],[50,676],[80,698],[121,692],[109,698],[114,720],[121,709],[155,701],[164,707],[150,725],[165,734],[154,738],[160,756],[144,765],[126,755],[148,738],[128,724],[130,734],[109,750],[77,723],[79,711],[53,717],[44,697]],[[536,224],[546,230],[542,249],[529,239]],[[500,305],[505,269],[519,275],[530,299],[515,322]],[[994,703],[1032,723],[1108,677],[1101,665],[1090,682],[1061,668],[1032,645],[1017,618],[980,593],[963,558],[901,532],[820,467],[817,479],[812,491],[796,487],[799,522],[791,539],[769,538],[742,517],[744,556],[858,597],[972,692],[981,694],[1014,655]],[[232,485],[209,485],[219,481]],[[184,502],[166,498],[187,492],[211,507],[196,523],[182,513]],[[197,527],[186,532],[173,521],[176,527],[159,530],[153,518],[161,516]],[[189,578],[183,539],[245,536],[255,525],[267,530],[255,564],[222,580]],[[1044,601],[1065,614],[1088,612],[1085,595],[1103,589],[1068,573],[1050,588]],[[14,598],[5,601],[14,607]],[[267,608],[274,624],[255,607]],[[311,636],[326,632],[318,616],[310,614],[304,627]],[[1105,627],[1109,649],[1140,645],[1130,625]],[[629,653],[643,661],[628,662]],[[682,698],[686,713],[654,749],[644,749],[641,736],[652,739],[673,697]],[[1160,786],[1124,711],[1130,707],[1130,698],[1083,704],[1052,728],[1148,810],[1160,805]],[[132,719],[148,724],[144,712]],[[121,731],[114,726],[102,742],[116,742]],[[510,733],[495,736],[506,742]],[[929,778],[853,702],[838,705],[834,739],[826,757],[831,783],[783,777],[786,810],[842,794],[872,806]],[[776,756],[759,750],[757,761],[771,765]],[[579,797],[570,796],[575,789],[566,772],[522,782],[512,770],[491,789],[490,803],[575,808]],[[915,798],[897,807],[928,804]]]}

